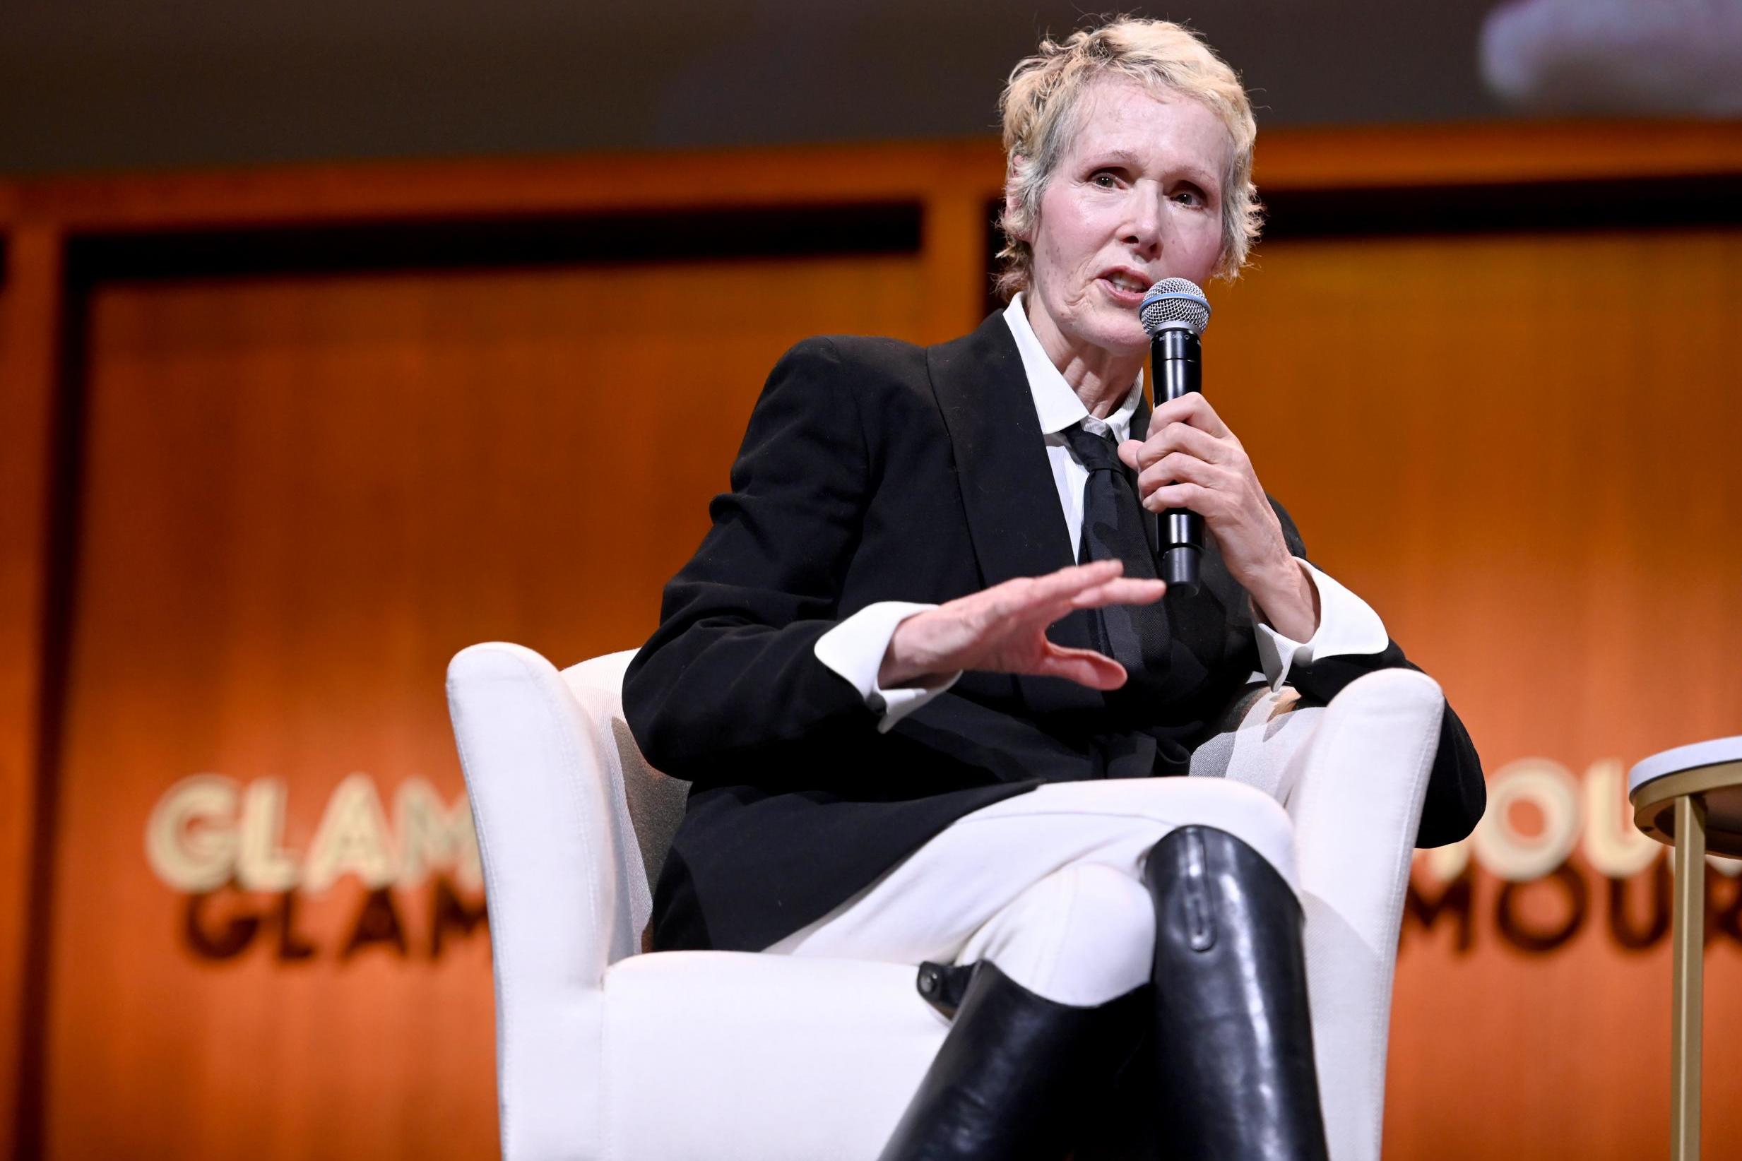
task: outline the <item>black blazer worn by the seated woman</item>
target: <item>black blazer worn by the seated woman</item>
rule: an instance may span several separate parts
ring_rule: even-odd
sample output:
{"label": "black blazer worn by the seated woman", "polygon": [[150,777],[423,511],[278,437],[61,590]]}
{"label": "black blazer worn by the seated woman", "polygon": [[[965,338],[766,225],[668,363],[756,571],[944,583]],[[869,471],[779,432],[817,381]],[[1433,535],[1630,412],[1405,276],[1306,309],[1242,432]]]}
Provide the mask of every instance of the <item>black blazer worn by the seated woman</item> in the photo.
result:
{"label": "black blazer worn by the seated woman", "polygon": [[[1139,413],[1136,432],[1148,423]],[[969,672],[888,733],[817,639],[876,601],[944,602],[1073,562],[1003,317],[922,348],[812,338],[763,388],[712,529],[665,587],[624,712],[646,759],[693,783],[653,895],[657,949],[760,950],[962,815],[1042,782],[1183,773],[1259,668],[1246,592],[1207,536],[1204,587],[1164,597],[1174,637],[1143,721],[1056,677]],[[1289,548],[1305,555],[1280,510]],[[1052,627],[1089,644],[1085,613]],[[1329,701],[1383,653],[1296,665]],[[1415,668],[1415,667],[1411,667]],[[1481,818],[1475,748],[1449,710],[1418,842]]]}

